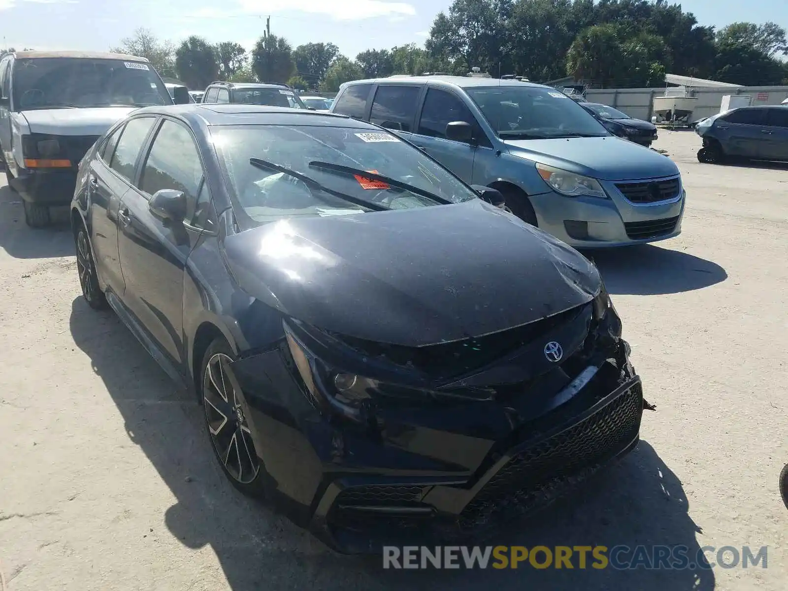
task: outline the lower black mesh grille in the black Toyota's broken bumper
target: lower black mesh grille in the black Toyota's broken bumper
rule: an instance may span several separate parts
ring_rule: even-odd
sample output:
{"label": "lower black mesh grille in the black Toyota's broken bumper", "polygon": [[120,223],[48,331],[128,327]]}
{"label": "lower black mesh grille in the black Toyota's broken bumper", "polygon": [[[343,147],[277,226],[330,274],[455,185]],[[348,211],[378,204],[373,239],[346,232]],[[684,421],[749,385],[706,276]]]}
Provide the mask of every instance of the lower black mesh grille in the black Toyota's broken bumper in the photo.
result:
{"label": "lower black mesh grille in the black Toyota's broken bumper", "polygon": [[475,528],[507,509],[529,511],[596,471],[637,437],[643,392],[637,381],[590,417],[512,457],[479,491],[460,516]]}

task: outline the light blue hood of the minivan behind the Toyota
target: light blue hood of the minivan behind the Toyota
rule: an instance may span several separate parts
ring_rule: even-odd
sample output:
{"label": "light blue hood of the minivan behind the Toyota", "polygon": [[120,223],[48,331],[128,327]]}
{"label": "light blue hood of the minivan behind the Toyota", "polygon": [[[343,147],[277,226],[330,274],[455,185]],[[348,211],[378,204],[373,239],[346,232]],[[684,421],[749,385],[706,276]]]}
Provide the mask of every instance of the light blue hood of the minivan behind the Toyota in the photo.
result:
{"label": "light blue hood of the minivan behind the Toyota", "polygon": [[678,166],[659,152],[615,136],[507,139],[514,156],[603,180],[672,177]]}

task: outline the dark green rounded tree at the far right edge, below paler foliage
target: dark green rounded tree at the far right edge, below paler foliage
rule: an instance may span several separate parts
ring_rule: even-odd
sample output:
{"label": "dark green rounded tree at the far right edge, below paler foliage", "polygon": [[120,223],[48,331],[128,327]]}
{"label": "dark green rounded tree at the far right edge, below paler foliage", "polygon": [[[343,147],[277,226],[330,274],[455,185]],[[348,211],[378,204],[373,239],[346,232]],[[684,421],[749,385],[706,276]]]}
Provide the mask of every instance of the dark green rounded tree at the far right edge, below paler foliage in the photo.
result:
{"label": "dark green rounded tree at the far right edge, below paler foliage", "polygon": [[746,43],[724,43],[714,59],[715,80],[742,86],[776,86],[785,78],[785,65]]}

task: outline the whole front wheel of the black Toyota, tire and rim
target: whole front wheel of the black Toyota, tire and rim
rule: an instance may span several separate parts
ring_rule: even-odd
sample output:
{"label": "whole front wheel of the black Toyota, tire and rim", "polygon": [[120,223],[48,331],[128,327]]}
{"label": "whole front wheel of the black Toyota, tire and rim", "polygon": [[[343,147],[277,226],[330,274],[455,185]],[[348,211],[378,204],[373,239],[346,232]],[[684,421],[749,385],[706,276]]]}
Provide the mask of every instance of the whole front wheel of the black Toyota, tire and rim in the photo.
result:
{"label": "whole front wheel of the black Toyota, tire and rim", "polygon": [[251,438],[249,409],[229,367],[234,360],[235,354],[221,338],[203,356],[200,387],[206,429],[225,477],[243,494],[262,497],[262,470]]}

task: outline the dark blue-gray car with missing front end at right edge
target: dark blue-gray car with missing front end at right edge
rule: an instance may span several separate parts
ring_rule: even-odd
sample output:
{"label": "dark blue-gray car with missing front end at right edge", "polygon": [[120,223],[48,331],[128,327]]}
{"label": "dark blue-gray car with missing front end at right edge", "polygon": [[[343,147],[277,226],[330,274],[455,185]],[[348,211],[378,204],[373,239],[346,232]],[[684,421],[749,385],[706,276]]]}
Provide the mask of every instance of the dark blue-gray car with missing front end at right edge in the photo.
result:
{"label": "dark blue-gray car with missing front end at right edge", "polygon": [[700,121],[697,159],[708,164],[730,156],[788,161],[788,106],[743,106]]}

